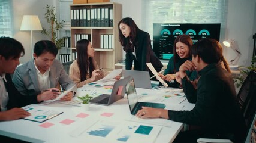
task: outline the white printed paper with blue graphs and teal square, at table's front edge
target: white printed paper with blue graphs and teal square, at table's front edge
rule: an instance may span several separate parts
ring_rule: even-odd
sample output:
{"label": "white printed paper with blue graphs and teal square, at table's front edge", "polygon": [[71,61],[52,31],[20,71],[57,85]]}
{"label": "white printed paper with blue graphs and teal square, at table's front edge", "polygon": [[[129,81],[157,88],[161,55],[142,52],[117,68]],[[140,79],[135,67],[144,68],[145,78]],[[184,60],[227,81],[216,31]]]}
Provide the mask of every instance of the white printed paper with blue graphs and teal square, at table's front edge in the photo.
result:
{"label": "white printed paper with blue graphs and teal square, at table's front edge", "polygon": [[[81,137],[90,139],[97,138],[98,141],[110,142],[153,142],[161,130],[161,126],[146,125],[135,122],[113,122],[107,120],[98,120],[91,127],[86,129]],[[83,138],[82,137],[82,138]]]}

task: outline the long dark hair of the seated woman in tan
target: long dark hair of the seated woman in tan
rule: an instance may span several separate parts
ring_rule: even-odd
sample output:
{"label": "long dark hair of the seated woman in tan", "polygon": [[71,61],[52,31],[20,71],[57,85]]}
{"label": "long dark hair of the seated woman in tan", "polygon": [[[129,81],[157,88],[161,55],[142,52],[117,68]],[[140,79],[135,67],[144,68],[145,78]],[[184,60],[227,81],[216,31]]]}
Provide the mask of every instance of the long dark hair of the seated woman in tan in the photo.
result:
{"label": "long dark hair of the seated woman in tan", "polygon": [[81,39],[76,43],[76,51],[77,51],[77,64],[80,70],[80,79],[81,81],[86,80],[86,75],[89,69],[89,75],[91,77],[92,71],[95,70],[94,64],[92,63],[92,57],[88,58],[87,47],[90,41],[87,39]]}

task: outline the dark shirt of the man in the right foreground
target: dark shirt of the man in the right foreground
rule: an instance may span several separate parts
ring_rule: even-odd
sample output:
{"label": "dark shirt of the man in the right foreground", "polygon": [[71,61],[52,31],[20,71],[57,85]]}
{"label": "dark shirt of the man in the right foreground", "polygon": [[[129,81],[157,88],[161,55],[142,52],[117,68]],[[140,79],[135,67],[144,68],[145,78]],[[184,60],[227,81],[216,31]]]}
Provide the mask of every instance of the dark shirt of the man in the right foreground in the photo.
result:
{"label": "dark shirt of the man in the right foreground", "polygon": [[244,139],[245,120],[237,102],[231,74],[220,63],[209,64],[199,74],[197,91],[191,88],[186,78],[182,79],[183,91],[188,101],[195,102],[195,107],[191,111],[169,110],[169,119],[220,134],[230,133],[236,141]]}

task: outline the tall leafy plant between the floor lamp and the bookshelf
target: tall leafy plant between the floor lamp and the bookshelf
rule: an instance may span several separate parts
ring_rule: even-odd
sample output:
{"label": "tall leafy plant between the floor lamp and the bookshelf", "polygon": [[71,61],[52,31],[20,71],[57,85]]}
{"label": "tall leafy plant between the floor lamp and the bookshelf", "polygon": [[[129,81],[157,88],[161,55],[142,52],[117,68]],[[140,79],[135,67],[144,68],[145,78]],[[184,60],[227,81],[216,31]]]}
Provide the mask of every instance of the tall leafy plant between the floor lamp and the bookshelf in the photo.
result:
{"label": "tall leafy plant between the floor lamp and the bookshelf", "polygon": [[64,43],[64,38],[58,39],[58,31],[63,28],[64,21],[57,21],[55,7],[46,5],[46,13],[44,14],[44,19],[46,19],[47,23],[50,25],[49,29],[43,27],[41,31],[42,34],[50,36],[50,39],[58,49],[60,49]]}

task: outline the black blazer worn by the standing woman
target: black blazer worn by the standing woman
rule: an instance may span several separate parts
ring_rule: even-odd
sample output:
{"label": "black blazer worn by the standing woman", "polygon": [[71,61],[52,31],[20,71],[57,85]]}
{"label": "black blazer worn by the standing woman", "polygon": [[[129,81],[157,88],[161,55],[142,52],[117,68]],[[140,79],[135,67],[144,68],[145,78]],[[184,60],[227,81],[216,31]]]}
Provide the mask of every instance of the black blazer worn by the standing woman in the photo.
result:
{"label": "black blazer worn by the standing woman", "polygon": [[[126,41],[128,42],[128,41]],[[142,30],[137,31],[135,39],[136,58],[131,51],[125,54],[125,69],[131,70],[132,61],[134,61],[134,70],[149,71],[146,63],[151,62],[156,71],[161,71],[163,65],[155,52],[153,52],[149,33]]]}

